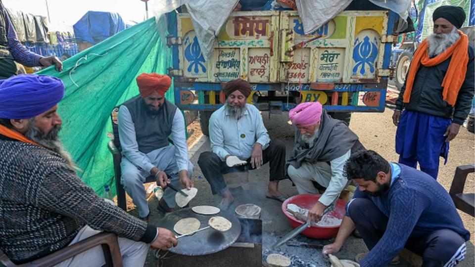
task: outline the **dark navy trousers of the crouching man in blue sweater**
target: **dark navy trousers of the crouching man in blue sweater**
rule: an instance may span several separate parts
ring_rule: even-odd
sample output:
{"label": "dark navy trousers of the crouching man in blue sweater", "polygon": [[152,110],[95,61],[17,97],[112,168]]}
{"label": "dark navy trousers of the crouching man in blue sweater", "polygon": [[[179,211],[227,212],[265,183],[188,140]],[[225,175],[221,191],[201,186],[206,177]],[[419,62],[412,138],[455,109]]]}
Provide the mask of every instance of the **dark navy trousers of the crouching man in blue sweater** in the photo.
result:
{"label": "dark navy trousers of the crouching man in blue sweater", "polygon": [[[371,250],[386,231],[388,218],[373,201],[366,198],[354,199],[348,208],[348,214]],[[439,229],[417,238],[410,236],[404,247],[423,258],[423,267],[442,267],[453,260],[464,243],[465,240],[456,232]]]}

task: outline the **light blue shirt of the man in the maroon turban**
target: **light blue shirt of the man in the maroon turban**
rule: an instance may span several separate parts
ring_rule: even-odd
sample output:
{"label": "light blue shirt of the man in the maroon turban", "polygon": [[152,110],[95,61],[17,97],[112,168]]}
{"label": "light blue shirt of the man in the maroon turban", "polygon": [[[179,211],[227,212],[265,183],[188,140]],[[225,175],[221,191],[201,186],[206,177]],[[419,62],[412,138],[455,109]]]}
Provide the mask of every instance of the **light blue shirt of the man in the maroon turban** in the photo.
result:
{"label": "light blue shirt of the man in the maroon turban", "polygon": [[264,150],[271,141],[259,110],[250,104],[246,104],[246,111],[239,120],[228,113],[226,105],[213,112],[209,119],[209,139],[211,150],[222,161],[227,155],[247,160],[256,142]]}

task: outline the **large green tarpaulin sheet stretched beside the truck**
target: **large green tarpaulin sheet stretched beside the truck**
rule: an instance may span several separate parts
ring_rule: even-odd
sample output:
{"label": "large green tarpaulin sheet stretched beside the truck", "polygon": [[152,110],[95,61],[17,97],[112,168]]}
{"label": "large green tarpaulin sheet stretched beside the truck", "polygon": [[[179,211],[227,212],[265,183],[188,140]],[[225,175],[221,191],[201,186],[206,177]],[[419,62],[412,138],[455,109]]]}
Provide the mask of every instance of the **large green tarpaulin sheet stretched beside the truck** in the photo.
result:
{"label": "large green tarpaulin sheet stretched beside the truck", "polygon": [[[151,18],[64,61],[62,72],[49,67],[37,73],[64,82],[66,92],[58,109],[63,121],[60,137],[82,170],[78,175],[98,194],[104,184],[115,190],[107,149],[107,134],[112,133],[110,113],[139,93],[135,81],[139,74],[167,73],[171,49],[162,40]],[[174,102],[173,88],[165,97]]]}

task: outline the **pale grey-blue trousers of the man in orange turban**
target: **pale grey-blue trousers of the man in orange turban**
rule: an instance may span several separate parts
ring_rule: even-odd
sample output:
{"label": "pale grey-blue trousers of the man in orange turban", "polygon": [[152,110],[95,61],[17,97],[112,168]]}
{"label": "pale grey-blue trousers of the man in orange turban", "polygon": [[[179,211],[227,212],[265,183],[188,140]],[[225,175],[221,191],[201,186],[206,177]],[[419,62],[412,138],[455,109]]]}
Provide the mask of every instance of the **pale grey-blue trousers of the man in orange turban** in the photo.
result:
{"label": "pale grey-blue trousers of the man in orange turban", "polygon": [[[181,188],[180,178],[178,177],[178,166],[175,158],[175,146],[165,146],[146,154],[150,162],[158,167],[158,169],[164,171],[171,183],[177,188]],[[127,158],[122,157],[120,163],[122,171],[121,183],[124,186],[125,191],[132,198],[132,201],[139,209],[139,216],[145,217],[150,213],[148,208],[148,202],[145,199],[146,193],[143,183],[145,179],[150,176],[150,173],[137,168]],[[188,177],[191,179],[193,173],[193,165],[188,161]],[[173,189],[167,187],[163,193],[163,199],[167,202],[168,207],[174,208],[177,203],[175,202],[176,192]]]}

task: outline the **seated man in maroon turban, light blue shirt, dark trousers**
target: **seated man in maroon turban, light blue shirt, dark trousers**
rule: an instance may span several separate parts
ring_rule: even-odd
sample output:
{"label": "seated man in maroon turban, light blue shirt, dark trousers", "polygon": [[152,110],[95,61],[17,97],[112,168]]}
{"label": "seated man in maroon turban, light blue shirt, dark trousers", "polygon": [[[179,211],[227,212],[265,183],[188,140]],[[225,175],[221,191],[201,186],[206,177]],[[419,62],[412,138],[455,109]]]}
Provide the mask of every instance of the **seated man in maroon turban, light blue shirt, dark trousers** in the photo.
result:
{"label": "seated man in maroon turban, light blue shirt, dark trousers", "polygon": [[[223,174],[236,169],[254,170],[269,162],[269,185],[266,197],[284,202],[279,181],[285,178],[285,144],[271,140],[259,110],[246,99],[251,85],[241,79],[226,83],[226,104],[213,112],[209,119],[211,150],[199,155],[198,165],[211,185],[213,194],[223,199],[220,207],[227,210],[234,202]],[[238,158],[245,163],[229,167],[226,160]],[[237,168],[238,167],[238,168]]]}

